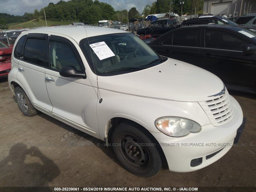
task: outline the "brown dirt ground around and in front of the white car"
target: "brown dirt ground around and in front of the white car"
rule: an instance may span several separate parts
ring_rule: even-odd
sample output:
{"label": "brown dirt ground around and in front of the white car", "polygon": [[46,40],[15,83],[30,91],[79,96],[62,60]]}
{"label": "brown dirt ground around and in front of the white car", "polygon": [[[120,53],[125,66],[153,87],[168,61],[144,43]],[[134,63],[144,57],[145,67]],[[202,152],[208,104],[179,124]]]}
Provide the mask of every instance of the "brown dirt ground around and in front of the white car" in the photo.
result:
{"label": "brown dirt ground around and in front of the white car", "polygon": [[2,78],[0,186],[256,187],[256,95],[230,94],[247,118],[238,146],[195,172],[161,170],[151,178],[140,178],[127,172],[104,142],[43,113],[24,116],[7,78]]}

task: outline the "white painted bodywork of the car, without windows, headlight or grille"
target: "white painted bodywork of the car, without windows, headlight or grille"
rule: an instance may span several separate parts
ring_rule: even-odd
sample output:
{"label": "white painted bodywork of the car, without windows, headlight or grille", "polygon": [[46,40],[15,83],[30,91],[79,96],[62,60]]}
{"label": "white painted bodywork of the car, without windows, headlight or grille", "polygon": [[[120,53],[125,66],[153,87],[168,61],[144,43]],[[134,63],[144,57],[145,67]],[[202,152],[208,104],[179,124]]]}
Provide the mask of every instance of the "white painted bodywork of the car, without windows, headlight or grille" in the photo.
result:
{"label": "white painted bodywork of the car, without windows, headlight or grille", "polygon": [[[9,86],[12,87],[12,82],[18,84],[38,110],[101,140],[108,137],[108,125],[112,118],[132,120],[156,138],[164,151],[169,169],[176,172],[203,168],[221,158],[231,148],[226,146],[209,160],[205,158],[223,148],[218,143],[232,143],[243,120],[242,110],[232,96],[234,118],[221,126],[213,126],[198,104],[214,99],[209,96],[223,89],[222,81],[214,74],[168,59],[162,64],[137,72],[96,76],[79,47],[80,40],[87,36],[123,33],[122,30],[57,26],[24,32],[28,33],[57,35],[70,40],[80,54],[87,76],[86,79],[64,78],[54,70],[34,66],[12,56]],[[18,66],[22,66],[25,71],[18,71]],[[55,81],[46,82],[45,77]],[[167,136],[154,125],[156,119],[164,116],[188,118],[200,124],[202,130],[180,138]],[[163,146],[166,143],[216,143],[217,146]],[[200,157],[203,157],[202,164],[191,167],[190,161]]]}

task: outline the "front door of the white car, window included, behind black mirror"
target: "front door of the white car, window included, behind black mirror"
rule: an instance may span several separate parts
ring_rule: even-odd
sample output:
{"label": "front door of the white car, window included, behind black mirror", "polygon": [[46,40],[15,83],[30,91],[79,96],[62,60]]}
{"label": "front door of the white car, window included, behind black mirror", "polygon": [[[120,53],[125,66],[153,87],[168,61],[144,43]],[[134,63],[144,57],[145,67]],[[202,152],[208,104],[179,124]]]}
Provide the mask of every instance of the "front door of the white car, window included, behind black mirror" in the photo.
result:
{"label": "front door of the white car, window included, behind black mirror", "polygon": [[92,86],[88,77],[66,78],[59,74],[64,66],[74,66],[78,71],[85,70],[77,49],[80,48],[72,39],[50,36],[50,60],[45,78],[53,105],[52,113],[66,124],[98,137],[97,88]]}

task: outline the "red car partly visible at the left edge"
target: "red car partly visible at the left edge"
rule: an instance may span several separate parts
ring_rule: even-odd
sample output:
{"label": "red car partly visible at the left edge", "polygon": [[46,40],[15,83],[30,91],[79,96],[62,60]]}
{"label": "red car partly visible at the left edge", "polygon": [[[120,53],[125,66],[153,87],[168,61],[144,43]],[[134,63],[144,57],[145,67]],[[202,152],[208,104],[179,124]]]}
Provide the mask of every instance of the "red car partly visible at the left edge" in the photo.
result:
{"label": "red car partly visible at the left edge", "polygon": [[0,41],[0,77],[7,76],[11,70],[11,56],[13,46]]}

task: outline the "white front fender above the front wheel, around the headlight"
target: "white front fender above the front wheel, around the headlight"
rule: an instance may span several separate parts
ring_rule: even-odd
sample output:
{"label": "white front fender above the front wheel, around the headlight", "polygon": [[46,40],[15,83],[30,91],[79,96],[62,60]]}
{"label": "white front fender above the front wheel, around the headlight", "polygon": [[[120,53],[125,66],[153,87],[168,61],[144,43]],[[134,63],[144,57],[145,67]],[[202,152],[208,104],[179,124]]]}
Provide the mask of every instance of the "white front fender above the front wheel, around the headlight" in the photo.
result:
{"label": "white front fender above the front wheel, around the headlight", "polygon": [[109,121],[120,117],[134,121],[150,132],[159,132],[154,122],[163,116],[179,116],[201,126],[210,121],[197,102],[178,102],[100,90],[102,102],[96,106],[99,138],[107,137]]}

